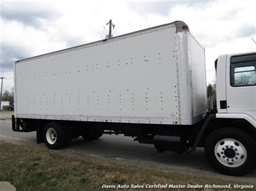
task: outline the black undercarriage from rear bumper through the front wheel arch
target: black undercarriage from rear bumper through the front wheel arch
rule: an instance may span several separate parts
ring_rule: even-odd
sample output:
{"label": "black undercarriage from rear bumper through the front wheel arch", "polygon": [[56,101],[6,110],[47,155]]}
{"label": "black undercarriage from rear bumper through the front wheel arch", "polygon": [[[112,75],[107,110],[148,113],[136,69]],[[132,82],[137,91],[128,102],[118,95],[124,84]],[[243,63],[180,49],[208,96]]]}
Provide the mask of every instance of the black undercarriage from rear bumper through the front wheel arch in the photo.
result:
{"label": "black undercarriage from rear bumper through the front wheel arch", "polygon": [[[63,121],[32,118],[14,118],[12,116],[13,131],[37,131],[37,144],[43,143],[43,129],[49,123],[58,124],[66,131],[66,143],[71,139],[82,136],[86,140],[98,139],[102,134],[123,134],[131,136],[141,144],[154,144],[158,151],[173,151],[177,153],[195,151],[196,147],[204,147],[209,134],[221,128],[242,129],[256,136],[254,126],[244,119],[216,118],[211,114],[193,125],[159,125],[159,124],[123,124],[92,121]],[[68,135],[69,134],[69,135]],[[62,146],[52,149],[61,149]]]}

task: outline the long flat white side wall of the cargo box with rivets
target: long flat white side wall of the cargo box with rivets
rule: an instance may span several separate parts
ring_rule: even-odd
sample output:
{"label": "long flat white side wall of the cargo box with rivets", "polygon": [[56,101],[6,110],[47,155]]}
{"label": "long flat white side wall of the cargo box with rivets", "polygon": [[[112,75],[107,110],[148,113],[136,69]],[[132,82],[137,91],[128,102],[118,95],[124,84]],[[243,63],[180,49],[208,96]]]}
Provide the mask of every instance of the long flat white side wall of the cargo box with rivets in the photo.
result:
{"label": "long flat white side wall of the cargo box with rivets", "polygon": [[16,65],[17,116],[179,121],[175,27]]}

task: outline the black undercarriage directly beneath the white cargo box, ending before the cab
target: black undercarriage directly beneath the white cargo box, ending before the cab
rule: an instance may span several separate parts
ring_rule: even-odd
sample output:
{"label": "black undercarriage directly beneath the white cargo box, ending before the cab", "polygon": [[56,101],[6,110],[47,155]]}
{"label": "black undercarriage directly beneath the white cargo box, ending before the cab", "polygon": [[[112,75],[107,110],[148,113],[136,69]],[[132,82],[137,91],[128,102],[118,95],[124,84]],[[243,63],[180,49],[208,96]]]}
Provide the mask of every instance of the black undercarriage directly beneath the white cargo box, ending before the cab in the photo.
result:
{"label": "black undercarriage directly beneath the white cargo box, ending before the cab", "polygon": [[[189,152],[195,143],[202,121],[192,126],[159,125],[159,124],[123,124],[92,121],[63,121],[32,118],[12,118],[13,131],[37,131],[37,144],[44,142],[43,131],[48,124],[61,126],[65,129],[63,146],[67,146],[71,139],[82,136],[86,140],[97,139],[102,134],[123,134],[131,136],[134,141],[142,144],[154,144],[160,151]],[[55,147],[51,149],[61,149]]]}

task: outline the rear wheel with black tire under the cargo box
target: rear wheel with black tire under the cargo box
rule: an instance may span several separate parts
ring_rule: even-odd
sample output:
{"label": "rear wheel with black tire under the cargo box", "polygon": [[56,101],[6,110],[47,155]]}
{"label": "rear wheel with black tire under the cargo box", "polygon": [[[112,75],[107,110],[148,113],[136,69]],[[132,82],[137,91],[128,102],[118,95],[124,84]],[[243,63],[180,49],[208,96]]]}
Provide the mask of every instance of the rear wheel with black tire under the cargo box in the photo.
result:
{"label": "rear wheel with black tire under the cargo box", "polygon": [[66,131],[56,122],[50,122],[43,130],[43,139],[49,149],[61,149],[66,141]]}

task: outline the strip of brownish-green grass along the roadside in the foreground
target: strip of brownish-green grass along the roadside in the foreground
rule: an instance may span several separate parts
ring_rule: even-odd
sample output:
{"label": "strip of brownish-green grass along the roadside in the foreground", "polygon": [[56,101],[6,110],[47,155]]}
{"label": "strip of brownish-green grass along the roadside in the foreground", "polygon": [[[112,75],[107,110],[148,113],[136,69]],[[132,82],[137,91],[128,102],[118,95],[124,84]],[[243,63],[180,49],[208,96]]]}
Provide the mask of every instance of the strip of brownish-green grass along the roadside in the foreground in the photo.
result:
{"label": "strip of brownish-green grass along the roadside in the foreground", "polygon": [[[17,190],[161,190],[146,185],[229,185],[237,182],[71,157],[40,146],[0,141],[0,181]],[[207,182],[207,183],[206,183]],[[141,189],[134,187],[143,186]],[[244,185],[244,183],[241,183]],[[110,187],[115,187],[115,189]],[[168,189],[162,189],[168,190]],[[180,190],[180,189],[172,189]],[[184,190],[184,189],[183,189]],[[209,190],[190,189],[190,190]],[[214,190],[214,189],[213,189]],[[217,189],[216,189],[217,190]],[[223,189],[225,190],[225,189]],[[234,190],[234,189],[232,189]],[[238,189],[240,190],[240,189]],[[246,189],[244,189],[246,190]]]}

